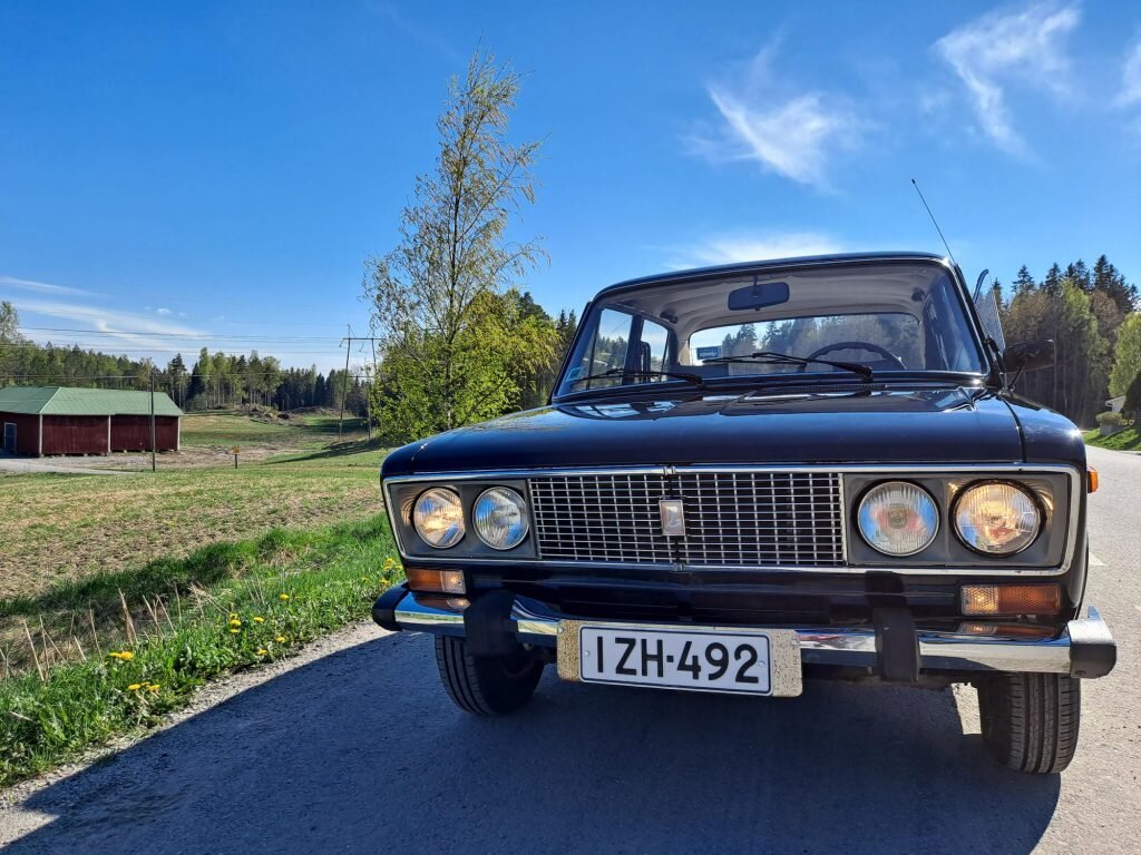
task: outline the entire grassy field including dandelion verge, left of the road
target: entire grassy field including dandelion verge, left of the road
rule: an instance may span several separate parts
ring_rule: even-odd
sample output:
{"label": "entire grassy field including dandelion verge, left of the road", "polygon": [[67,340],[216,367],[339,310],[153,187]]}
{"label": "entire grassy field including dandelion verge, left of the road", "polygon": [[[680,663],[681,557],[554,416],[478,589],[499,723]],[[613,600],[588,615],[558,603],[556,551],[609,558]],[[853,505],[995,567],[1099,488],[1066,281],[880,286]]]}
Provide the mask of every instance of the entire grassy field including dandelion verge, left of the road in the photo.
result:
{"label": "entire grassy field including dandelion verge, left of the road", "polygon": [[365,617],[402,571],[363,426],[194,415],[155,473],[0,479],[0,784]]}

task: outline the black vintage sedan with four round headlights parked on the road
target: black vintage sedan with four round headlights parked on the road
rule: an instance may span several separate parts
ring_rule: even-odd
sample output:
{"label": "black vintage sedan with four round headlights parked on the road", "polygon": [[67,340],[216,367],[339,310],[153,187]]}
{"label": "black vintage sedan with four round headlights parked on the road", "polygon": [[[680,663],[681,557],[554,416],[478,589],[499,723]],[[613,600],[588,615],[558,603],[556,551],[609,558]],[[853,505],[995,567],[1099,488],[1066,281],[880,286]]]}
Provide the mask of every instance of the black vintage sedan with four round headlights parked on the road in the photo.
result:
{"label": "black vintage sedan with four round headlights parked on the road", "polygon": [[[980,279],[981,282],[981,279]],[[382,489],[462,709],[567,681],[769,698],[978,690],[1003,764],[1065,768],[1112,637],[1082,434],[1017,394],[994,298],[923,253],[671,272],[589,304],[550,405],[414,442]],[[806,739],[810,734],[806,734]]]}

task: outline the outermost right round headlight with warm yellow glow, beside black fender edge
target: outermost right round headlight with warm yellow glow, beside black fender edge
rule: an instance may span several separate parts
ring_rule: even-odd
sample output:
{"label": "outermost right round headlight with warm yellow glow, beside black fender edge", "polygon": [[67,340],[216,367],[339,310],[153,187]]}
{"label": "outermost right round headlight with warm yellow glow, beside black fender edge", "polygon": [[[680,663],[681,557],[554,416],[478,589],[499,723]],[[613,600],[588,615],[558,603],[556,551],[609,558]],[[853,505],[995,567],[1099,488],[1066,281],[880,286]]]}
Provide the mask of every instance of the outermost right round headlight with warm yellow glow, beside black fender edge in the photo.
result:
{"label": "outermost right round headlight with warm yellow glow, beside black fender edge", "polygon": [[969,487],[955,502],[955,531],[976,552],[1013,555],[1034,543],[1042,512],[1029,492],[1005,481]]}

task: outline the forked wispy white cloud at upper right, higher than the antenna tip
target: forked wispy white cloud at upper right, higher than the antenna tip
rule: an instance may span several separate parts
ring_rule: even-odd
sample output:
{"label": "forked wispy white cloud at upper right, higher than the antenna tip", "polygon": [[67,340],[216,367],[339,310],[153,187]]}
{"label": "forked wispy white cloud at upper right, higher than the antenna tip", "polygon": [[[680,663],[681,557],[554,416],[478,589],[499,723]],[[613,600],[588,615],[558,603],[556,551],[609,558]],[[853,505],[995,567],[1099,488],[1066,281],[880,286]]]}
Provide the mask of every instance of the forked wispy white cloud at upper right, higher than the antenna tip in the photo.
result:
{"label": "forked wispy white cloud at upper right, higher than the antenna tip", "polygon": [[1077,5],[1036,3],[987,13],[934,43],[966,87],[979,127],[1000,148],[1028,154],[1008,105],[1012,82],[1054,96],[1068,92],[1066,38],[1079,19]]}

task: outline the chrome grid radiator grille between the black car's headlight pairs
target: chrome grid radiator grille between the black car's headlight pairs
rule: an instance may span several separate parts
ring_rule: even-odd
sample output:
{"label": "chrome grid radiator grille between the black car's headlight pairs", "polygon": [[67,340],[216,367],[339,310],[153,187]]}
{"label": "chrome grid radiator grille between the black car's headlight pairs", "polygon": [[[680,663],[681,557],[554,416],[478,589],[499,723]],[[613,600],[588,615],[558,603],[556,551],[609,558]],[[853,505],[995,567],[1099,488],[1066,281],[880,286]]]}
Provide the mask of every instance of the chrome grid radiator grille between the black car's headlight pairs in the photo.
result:
{"label": "chrome grid radiator grille between the black car's headlight pairs", "polygon": [[[531,479],[547,560],[712,567],[842,567],[843,500],[830,472],[549,475]],[[679,498],[686,535],[662,535],[658,502]]]}

